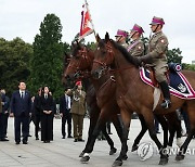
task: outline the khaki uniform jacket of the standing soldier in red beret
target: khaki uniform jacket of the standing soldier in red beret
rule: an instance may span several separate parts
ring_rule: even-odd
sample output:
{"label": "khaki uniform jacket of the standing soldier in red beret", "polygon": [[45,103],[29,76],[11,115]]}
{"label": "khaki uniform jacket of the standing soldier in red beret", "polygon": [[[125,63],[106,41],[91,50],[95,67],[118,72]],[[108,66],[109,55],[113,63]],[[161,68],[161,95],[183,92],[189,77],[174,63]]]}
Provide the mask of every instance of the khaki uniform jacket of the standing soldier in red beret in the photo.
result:
{"label": "khaki uniform jacket of the standing soldier in red beret", "polygon": [[78,115],[86,114],[86,92],[84,91],[81,91],[81,94],[77,90],[73,91],[70,113],[78,114]]}

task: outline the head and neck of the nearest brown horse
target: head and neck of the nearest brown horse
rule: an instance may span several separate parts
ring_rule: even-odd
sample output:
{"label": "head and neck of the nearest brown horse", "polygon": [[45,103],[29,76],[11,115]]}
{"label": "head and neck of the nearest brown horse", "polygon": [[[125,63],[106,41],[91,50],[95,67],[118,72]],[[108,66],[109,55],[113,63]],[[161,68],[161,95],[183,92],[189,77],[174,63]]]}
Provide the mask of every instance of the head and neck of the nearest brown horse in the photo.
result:
{"label": "head and neck of the nearest brown horse", "polygon": [[109,38],[108,33],[105,39],[96,36],[98,48],[94,53],[92,76],[99,79],[110,68],[113,70],[122,70],[133,65],[138,67],[138,57],[128,53],[127,49]]}

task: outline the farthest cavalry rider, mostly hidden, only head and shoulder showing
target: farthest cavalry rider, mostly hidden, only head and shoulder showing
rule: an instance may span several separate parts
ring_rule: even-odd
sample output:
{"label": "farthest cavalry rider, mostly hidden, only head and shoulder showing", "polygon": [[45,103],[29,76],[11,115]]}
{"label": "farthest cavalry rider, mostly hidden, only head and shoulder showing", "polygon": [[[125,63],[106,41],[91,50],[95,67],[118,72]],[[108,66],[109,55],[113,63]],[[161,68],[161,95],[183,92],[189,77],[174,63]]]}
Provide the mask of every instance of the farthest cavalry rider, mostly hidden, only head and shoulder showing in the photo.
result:
{"label": "farthest cavalry rider, mostly hidden, only head and shoulder showing", "polygon": [[128,43],[126,42],[126,39],[128,37],[128,33],[121,29],[117,30],[116,37],[116,42],[119,43],[120,46],[128,48]]}

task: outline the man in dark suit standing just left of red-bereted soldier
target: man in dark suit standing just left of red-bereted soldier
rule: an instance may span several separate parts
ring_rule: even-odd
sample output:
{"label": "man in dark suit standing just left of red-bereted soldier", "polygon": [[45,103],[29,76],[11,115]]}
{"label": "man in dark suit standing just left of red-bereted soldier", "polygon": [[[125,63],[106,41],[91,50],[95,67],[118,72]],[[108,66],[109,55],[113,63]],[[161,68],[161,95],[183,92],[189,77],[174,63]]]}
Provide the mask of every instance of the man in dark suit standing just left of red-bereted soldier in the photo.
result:
{"label": "man in dark suit standing just left of red-bereted soldier", "polygon": [[65,132],[65,124],[67,121],[68,127],[68,138],[72,137],[72,114],[70,114],[70,94],[72,90],[67,88],[65,90],[64,95],[61,98],[60,102],[60,113],[62,117],[62,136],[63,139],[65,139],[66,132]]}

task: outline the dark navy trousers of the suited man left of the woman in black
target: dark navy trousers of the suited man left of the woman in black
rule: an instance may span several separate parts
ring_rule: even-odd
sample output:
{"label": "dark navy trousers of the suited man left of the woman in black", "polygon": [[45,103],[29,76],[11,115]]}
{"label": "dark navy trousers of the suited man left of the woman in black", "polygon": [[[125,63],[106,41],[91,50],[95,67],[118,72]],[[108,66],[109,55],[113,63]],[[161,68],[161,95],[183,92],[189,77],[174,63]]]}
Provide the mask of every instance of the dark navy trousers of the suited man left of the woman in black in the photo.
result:
{"label": "dark navy trousers of the suited man left of the woman in black", "polygon": [[21,142],[21,125],[23,131],[23,141],[27,141],[29,132],[29,116],[22,114],[21,116],[16,116],[14,118],[15,142]]}

